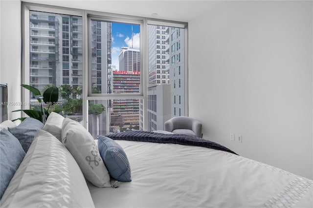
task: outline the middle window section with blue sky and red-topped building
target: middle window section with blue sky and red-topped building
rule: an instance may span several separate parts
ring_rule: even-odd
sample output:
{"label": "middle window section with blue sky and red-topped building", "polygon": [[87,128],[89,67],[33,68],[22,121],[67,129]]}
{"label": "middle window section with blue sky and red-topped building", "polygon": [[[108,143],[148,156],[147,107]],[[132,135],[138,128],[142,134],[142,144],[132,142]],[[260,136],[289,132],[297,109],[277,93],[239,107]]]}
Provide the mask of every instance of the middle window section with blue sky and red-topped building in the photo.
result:
{"label": "middle window section with blue sky and red-topped building", "polygon": [[[122,22],[119,19],[108,21],[91,16],[88,24],[88,102],[89,106],[103,107],[101,113],[89,114],[89,131],[97,135],[139,129],[140,99],[134,95],[142,96],[142,22]],[[97,98],[93,99],[94,96]]]}

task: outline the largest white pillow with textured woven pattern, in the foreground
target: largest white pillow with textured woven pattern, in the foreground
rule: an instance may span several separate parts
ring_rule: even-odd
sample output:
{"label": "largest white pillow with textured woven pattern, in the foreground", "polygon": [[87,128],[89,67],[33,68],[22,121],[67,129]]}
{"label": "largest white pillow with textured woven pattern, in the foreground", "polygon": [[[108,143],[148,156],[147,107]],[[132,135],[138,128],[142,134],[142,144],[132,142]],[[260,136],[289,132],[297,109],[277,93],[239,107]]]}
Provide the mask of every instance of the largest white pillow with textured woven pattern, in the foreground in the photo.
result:
{"label": "largest white pillow with textured woven pattern, in the foreground", "polygon": [[39,129],[5,190],[1,207],[94,208],[82,171],[67,148]]}

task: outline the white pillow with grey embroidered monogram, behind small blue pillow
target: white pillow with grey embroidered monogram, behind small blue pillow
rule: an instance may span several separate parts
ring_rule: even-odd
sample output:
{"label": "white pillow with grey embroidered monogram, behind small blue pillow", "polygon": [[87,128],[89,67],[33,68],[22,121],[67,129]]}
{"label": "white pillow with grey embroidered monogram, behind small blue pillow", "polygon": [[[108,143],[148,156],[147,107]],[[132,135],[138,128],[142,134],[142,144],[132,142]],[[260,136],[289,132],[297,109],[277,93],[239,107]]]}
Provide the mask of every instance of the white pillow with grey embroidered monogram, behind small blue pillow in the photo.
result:
{"label": "white pillow with grey embroidered monogram, behind small blue pillow", "polygon": [[62,143],[73,155],[87,180],[96,187],[111,187],[110,175],[98,147],[84,126],[65,118],[62,125]]}

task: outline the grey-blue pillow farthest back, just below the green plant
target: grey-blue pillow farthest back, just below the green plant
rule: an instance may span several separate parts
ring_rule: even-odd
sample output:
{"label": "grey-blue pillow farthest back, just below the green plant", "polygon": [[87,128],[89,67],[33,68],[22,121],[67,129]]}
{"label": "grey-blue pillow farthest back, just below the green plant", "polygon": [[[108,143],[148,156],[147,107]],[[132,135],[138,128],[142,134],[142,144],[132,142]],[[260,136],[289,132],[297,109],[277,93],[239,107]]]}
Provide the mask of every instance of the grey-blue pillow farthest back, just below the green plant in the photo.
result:
{"label": "grey-blue pillow farthest back, just below the green plant", "polygon": [[29,146],[34,140],[35,134],[38,129],[42,129],[44,124],[34,118],[26,118],[20,125],[8,130],[20,141],[23,150],[27,152]]}

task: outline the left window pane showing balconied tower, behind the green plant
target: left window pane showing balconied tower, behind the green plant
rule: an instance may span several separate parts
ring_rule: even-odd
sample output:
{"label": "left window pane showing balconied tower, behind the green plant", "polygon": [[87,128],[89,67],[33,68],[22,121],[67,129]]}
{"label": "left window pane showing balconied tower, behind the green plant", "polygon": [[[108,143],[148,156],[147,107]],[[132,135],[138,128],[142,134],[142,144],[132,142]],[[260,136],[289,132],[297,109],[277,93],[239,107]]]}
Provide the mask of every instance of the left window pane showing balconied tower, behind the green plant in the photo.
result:
{"label": "left window pane showing balconied tower, behind the green plant", "polygon": [[[59,100],[49,110],[62,109],[60,114],[79,122],[83,120],[82,33],[82,17],[29,12],[29,85],[42,95],[57,86]],[[30,99],[30,107],[35,107],[32,93]]]}

